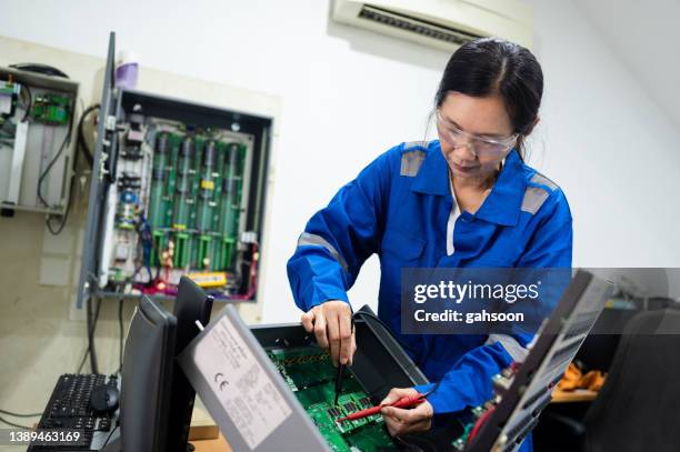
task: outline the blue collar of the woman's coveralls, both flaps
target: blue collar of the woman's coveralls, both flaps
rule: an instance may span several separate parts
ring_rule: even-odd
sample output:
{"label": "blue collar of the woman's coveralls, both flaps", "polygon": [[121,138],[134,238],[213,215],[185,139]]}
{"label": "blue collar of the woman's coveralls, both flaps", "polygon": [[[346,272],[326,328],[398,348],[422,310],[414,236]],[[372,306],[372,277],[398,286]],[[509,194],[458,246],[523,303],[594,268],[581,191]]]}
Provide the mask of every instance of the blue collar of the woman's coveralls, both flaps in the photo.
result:
{"label": "blue collar of the woman's coveralls, both flaps", "polygon": [[[516,225],[519,221],[520,209],[527,180],[523,163],[513,149],[506,158],[498,180],[491,189],[474,218],[502,225]],[[431,141],[428,154],[418,171],[411,190],[437,195],[449,195],[449,164],[441,153],[439,141]]]}

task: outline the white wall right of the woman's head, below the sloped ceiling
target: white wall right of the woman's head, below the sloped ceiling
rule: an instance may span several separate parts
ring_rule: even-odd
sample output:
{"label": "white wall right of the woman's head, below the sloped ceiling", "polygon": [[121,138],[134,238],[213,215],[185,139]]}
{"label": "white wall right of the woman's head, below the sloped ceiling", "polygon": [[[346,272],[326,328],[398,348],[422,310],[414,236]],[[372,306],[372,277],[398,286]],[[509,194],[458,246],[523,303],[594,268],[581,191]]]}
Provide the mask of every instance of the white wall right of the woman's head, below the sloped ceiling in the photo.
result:
{"label": "white wall right of the woman's head, below the sloped ceiling", "polygon": [[537,157],[570,201],[574,265],[680,267],[680,134],[572,2],[532,3],[547,80]]}

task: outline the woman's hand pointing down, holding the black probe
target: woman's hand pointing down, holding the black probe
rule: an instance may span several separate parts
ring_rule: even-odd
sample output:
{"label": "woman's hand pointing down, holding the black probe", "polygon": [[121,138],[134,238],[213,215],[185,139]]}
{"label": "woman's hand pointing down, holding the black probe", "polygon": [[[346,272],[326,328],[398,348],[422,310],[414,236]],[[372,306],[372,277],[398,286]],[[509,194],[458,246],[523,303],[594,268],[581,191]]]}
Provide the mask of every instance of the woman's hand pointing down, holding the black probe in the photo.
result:
{"label": "woman's hand pointing down, holding the black probe", "polygon": [[352,364],[357,341],[352,329],[352,310],[341,300],[329,300],[302,314],[302,327],[314,332],[317,342],[330,349],[333,365]]}

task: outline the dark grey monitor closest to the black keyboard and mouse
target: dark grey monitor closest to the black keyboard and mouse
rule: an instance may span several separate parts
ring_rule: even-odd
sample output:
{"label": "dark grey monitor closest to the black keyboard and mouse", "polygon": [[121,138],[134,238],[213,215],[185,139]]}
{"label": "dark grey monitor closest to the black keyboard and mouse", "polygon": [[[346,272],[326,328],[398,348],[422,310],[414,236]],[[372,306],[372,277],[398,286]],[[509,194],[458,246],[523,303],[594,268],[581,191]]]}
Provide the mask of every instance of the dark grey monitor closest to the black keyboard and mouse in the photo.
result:
{"label": "dark grey monitor closest to the black keyboard and mouse", "polygon": [[102,451],[167,450],[176,331],[174,315],[140,299],[126,340],[119,436]]}

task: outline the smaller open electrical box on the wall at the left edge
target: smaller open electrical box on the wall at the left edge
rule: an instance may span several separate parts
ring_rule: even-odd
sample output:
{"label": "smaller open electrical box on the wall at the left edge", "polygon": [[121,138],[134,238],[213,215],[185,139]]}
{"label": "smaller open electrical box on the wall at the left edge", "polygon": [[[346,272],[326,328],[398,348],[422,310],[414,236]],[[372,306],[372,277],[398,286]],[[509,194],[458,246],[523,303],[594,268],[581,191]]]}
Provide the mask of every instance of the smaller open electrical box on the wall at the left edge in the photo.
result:
{"label": "smaller open electrical box on the wall at the left edge", "polygon": [[0,68],[0,204],[61,215],[69,203],[78,83]]}

